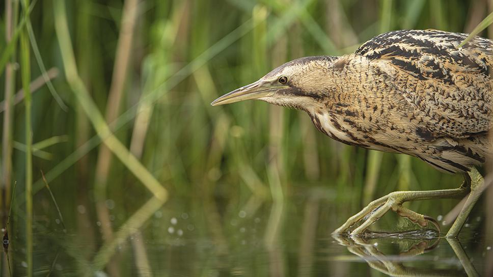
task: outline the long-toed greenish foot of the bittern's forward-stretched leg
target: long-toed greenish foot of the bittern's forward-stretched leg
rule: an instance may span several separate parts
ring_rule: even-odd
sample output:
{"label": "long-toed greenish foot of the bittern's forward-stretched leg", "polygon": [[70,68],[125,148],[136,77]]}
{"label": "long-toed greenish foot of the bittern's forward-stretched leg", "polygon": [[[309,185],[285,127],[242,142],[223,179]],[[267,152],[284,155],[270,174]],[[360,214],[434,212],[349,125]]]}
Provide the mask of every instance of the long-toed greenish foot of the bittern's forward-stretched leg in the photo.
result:
{"label": "long-toed greenish foot of the bittern's forward-stretched leg", "polygon": [[[430,216],[426,216],[402,206],[402,203],[413,200],[415,191],[395,191],[387,196],[379,198],[366,206],[359,213],[351,216],[346,223],[334,231],[334,234],[349,233],[351,237],[362,236],[365,231],[389,210],[393,210],[399,216],[405,217],[421,227],[427,227],[431,223],[440,232],[440,225]],[[366,218],[366,219],[365,219]],[[362,224],[350,231],[351,228],[362,221]]]}

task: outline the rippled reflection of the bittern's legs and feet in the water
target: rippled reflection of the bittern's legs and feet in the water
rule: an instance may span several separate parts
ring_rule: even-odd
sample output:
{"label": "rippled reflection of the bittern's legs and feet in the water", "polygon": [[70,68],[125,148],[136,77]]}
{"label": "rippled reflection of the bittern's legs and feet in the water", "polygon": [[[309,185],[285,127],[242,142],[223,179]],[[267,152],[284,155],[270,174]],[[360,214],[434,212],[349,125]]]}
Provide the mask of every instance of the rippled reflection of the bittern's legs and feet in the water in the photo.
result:
{"label": "rippled reflection of the bittern's legs and feet in the water", "polygon": [[[441,268],[426,267],[425,262],[429,258],[419,256],[436,250],[441,240],[443,242],[443,238],[439,235],[433,230],[417,230],[392,234],[367,233],[364,237],[334,234],[333,238],[340,245],[346,246],[349,252],[362,258],[370,267],[391,276],[479,276],[456,238],[445,240],[453,249],[461,269],[457,269],[457,263],[452,263],[448,268],[444,268],[443,264]],[[382,249],[388,244],[397,245],[399,253],[384,253]],[[419,261],[423,262],[420,263],[422,266],[415,266]],[[413,263],[413,266],[406,265],[406,263]]]}

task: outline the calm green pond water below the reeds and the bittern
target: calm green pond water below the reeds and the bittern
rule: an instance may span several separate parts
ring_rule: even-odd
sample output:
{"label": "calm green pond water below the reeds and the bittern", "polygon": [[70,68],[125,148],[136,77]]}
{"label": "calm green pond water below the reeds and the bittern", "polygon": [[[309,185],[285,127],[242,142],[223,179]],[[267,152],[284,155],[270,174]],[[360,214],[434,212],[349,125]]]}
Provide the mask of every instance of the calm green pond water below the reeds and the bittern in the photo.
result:
{"label": "calm green pond water below the reeds and the bittern", "polygon": [[[97,219],[103,218],[97,216],[101,212],[97,205],[61,199],[61,206],[72,206],[62,209],[65,229],[53,208],[46,209],[46,215],[41,214],[43,209],[37,211],[35,274],[481,276],[491,270],[493,241],[482,231],[481,209],[476,209],[459,239],[440,238],[431,230],[404,232],[417,227],[390,212],[372,228],[401,230],[400,234],[356,240],[331,235],[356,211],[349,201],[337,203],[332,194],[318,187],[299,189],[277,201],[193,196],[172,198],[163,206],[152,198],[141,206],[110,199],[102,210],[108,222],[118,226],[111,233],[105,233],[107,226]],[[11,236],[15,275],[23,273],[24,252]]]}

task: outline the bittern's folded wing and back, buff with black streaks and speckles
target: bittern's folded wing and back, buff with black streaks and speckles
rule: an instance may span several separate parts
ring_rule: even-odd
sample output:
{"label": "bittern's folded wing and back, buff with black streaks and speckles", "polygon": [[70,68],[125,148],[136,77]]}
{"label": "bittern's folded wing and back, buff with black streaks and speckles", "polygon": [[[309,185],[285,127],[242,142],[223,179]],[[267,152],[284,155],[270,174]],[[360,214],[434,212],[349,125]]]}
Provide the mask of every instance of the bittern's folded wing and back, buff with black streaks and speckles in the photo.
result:
{"label": "bittern's folded wing and back, buff with black streaks and speckles", "polygon": [[413,106],[413,119],[432,137],[463,138],[493,127],[493,42],[438,30],[404,30],[379,35],[355,54],[392,78]]}

